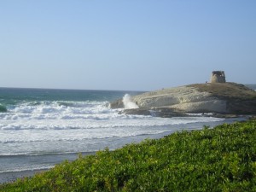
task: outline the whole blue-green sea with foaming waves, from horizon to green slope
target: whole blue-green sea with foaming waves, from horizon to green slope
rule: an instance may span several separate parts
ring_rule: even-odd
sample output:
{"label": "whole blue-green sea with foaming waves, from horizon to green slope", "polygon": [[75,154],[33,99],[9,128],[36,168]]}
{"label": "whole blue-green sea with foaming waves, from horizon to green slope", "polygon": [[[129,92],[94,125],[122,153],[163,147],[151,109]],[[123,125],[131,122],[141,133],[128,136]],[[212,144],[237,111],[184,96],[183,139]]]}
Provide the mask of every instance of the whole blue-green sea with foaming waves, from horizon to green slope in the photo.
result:
{"label": "whole blue-green sea with foaming waves, from horizon to green slope", "polygon": [[140,93],[0,88],[0,183],[12,179],[3,179],[6,175],[47,170],[63,160],[75,160],[78,154],[240,120],[201,114],[160,118],[109,108],[110,102]]}

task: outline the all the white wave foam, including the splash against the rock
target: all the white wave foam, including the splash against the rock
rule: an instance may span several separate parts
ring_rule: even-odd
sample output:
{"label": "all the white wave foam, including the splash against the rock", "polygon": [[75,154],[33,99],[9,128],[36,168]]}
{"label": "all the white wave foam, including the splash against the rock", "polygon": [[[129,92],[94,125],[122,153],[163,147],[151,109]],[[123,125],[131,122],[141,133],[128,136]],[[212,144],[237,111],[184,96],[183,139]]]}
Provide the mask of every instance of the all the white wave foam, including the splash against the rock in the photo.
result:
{"label": "all the white wave foam, including the splash against the rock", "polygon": [[[124,98],[126,108],[136,107],[130,96]],[[96,146],[103,145],[97,141],[106,138],[149,136],[171,131],[172,125],[222,120],[126,115],[107,106],[108,102],[89,101],[24,102],[10,106],[8,113],[0,113],[0,155],[83,151],[85,145],[89,146],[86,151],[97,150]]]}

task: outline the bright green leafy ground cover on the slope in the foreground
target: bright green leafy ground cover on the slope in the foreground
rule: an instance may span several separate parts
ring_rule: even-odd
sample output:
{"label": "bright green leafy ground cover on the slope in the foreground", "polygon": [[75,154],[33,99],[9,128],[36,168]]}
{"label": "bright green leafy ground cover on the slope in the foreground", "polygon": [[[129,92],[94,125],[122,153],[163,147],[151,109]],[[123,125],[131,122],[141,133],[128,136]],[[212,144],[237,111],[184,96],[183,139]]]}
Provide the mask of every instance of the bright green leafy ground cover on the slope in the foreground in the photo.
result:
{"label": "bright green leafy ground cover on the slope in the foreground", "polygon": [[1,191],[256,191],[256,120],[65,161]]}

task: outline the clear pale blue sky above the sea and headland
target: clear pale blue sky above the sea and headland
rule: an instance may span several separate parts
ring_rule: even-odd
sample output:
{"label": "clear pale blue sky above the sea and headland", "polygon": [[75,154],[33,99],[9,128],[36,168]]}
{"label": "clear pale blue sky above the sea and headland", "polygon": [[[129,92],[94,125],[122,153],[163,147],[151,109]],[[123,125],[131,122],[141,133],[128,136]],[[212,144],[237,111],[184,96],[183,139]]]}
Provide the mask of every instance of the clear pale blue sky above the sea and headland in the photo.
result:
{"label": "clear pale blue sky above the sea and headland", "polygon": [[1,0],[0,87],[256,84],[255,0]]}

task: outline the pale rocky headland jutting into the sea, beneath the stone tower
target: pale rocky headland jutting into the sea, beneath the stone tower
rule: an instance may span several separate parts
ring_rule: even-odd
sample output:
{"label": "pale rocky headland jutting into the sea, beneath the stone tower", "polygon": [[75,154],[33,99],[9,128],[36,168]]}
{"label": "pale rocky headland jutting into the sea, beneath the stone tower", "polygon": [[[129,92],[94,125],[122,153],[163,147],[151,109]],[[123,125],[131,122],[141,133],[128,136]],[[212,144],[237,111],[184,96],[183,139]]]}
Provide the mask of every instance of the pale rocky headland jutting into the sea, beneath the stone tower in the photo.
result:
{"label": "pale rocky headland jutting into the sea, beneath the stone tower", "polygon": [[[243,84],[189,84],[131,96],[137,108],[126,108],[122,99],[111,108],[124,108],[121,113],[160,117],[186,116],[202,113],[218,117],[256,114],[256,91]],[[210,113],[210,114],[209,114]]]}

